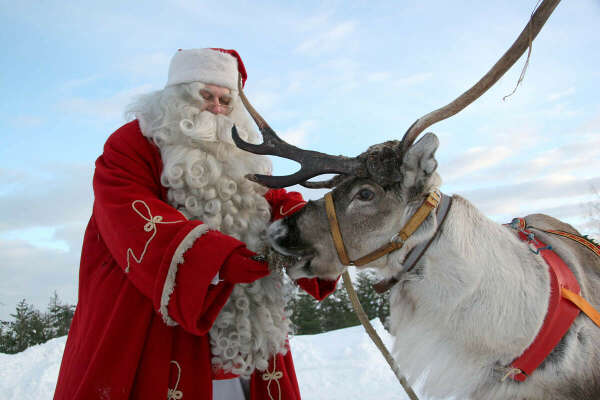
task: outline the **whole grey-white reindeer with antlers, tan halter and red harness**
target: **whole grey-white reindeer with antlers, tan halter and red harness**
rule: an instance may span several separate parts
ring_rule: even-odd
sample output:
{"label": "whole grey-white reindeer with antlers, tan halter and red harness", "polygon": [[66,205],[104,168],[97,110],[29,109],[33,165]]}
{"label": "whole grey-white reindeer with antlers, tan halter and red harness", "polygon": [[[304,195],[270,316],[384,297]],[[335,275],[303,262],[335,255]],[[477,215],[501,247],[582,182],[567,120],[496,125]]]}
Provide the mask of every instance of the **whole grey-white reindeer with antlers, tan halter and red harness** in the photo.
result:
{"label": "whole grey-white reindeer with antlers, tan halter and red harness", "polygon": [[[557,3],[542,3],[513,45],[521,50],[511,48],[503,56],[513,60],[508,64],[524,52],[527,41],[531,45],[545,22],[540,24],[540,15],[547,18]],[[510,67],[505,59],[500,61],[496,66]],[[416,141],[431,123],[460,111],[481,95],[482,87],[487,90],[503,73],[494,68],[486,75],[489,79],[482,78],[460,101],[417,120],[402,140],[371,146],[358,157],[285,143],[241,88],[264,143],[243,142],[235,127],[232,135],[245,150],[302,165],[293,175],[249,179],[270,187],[303,183],[333,188],[274,223],[268,230],[270,244],[293,257],[287,267],[293,279],[336,279],[348,265],[377,270],[391,290],[395,358],[409,382],[424,379],[427,395],[600,399],[600,327],[561,297],[580,290],[588,305],[600,307],[600,251],[595,254],[593,245],[565,237],[578,238],[579,233],[550,216],[533,214],[499,225],[467,199],[441,193],[438,138],[427,133]],[[324,173],[337,175],[326,182],[307,182]],[[545,261],[556,255],[564,262],[562,272]],[[563,317],[569,315],[564,317],[569,323],[558,323],[560,334],[548,330],[557,309],[566,313]],[[536,353],[537,361],[531,362],[528,352],[548,335],[554,335],[548,354]],[[523,361],[526,355],[528,361]]]}

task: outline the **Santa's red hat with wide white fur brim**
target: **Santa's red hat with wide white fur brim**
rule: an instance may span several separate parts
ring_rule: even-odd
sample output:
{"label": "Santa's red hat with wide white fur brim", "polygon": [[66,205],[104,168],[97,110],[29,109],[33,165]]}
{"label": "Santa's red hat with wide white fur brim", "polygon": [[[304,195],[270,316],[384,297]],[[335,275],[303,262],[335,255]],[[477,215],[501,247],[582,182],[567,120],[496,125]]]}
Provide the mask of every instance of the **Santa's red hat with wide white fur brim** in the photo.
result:
{"label": "Santa's red hat with wide white fur brim", "polygon": [[242,87],[246,83],[246,68],[235,50],[218,48],[179,49],[171,59],[167,86],[203,82],[237,90],[238,74]]}

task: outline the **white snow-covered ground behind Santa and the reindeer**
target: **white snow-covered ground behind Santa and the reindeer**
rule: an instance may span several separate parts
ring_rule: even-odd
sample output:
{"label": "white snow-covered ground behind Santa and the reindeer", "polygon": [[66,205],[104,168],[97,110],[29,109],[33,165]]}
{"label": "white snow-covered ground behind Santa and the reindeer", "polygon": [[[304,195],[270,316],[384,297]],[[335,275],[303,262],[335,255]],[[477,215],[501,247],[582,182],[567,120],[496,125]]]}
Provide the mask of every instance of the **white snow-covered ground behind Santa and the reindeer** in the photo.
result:
{"label": "white snow-covered ground behind Santa and the reindeer", "polygon": [[[389,348],[390,335],[379,320],[373,325]],[[62,337],[19,354],[0,354],[0,397],[52,399],[65,342]],[[408,399],[362,326],[295,336],[291,344],[303,400],[321,400],[324,393],[328,399]]]}

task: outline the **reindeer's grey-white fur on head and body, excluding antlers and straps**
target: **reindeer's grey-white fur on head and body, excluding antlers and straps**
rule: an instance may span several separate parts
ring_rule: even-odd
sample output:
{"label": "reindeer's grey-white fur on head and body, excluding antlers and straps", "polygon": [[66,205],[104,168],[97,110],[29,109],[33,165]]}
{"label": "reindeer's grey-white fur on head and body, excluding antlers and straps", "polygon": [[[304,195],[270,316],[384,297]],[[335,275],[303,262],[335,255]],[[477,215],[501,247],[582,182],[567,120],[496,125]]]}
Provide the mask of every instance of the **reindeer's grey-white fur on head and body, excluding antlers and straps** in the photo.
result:
{"label": "reindeer's grey-white fur on head and body, excluding antlers and straps", "polygon": [[[333,192],[340,229],[351,258],[382,245],[441,184],[434,158],[438,140],[427,134],[401,157],[398,181],[381,186],[350,178]],[[374,193],[370,201],[357,194]],[[539,229],[577,233],[552,217],[526,217],[532,231],[569,265],[582,295],[600,308],[600,262],[588,249]],[[423,392],[457,399],[600,399],[600,328],[580,314],[546,361],[525,382],[505,379],[507,366],[531,344],[549,299],[548,266],[514,230],[494,223],[469,201],[453,204],[437,239],[410,272],[407,252],[431,238],[435,213],[405,246],[367,267],[400,282],[391,289],[391,333],[400,370],[411,383],[424,378]],[[535,229],[538,228],[538,229]],[[269,229],[272,246],[298,257],[292,278],[338,276],[338,260],[323,199]]]}

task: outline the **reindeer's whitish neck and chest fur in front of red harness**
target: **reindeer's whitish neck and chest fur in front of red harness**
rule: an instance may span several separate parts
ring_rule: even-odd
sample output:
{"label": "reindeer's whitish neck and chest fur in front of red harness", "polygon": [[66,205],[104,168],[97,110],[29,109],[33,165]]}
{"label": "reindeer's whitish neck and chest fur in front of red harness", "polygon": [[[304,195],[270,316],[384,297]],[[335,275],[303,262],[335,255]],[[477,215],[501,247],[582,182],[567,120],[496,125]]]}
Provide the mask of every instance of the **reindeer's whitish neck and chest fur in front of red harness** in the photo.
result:
{"label": "reindeer's whitish neck and chest fur in front of red harness", "polygon": [[[549,298],[544,261],[513,232],[455,196],[419,270],[422,276],[406,276],[391,293],[400,370],[411,382],[426,374],[424,388],[436,397],[462,399],[481,382],[499,384],[502,367],[542,325]],[[521,390],[534,381],[520,384]],[[505,382],[490,398],[510,398],[515,385]]]}

